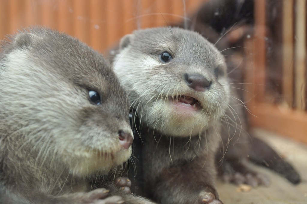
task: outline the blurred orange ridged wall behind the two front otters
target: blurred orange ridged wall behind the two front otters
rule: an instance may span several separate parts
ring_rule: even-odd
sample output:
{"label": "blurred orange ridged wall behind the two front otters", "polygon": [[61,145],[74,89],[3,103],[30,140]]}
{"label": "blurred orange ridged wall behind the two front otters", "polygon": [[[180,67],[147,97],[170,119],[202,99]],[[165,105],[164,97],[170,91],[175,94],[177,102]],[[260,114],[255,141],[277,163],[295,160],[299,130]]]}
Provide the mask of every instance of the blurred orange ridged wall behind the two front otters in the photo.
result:
{"label": "blurred orange ridged wall behind the two front otters", "polygon": [[204,0],[0,0],[0,38],[32,25],[68,33],[104,52],[135,29],[182,21]]}

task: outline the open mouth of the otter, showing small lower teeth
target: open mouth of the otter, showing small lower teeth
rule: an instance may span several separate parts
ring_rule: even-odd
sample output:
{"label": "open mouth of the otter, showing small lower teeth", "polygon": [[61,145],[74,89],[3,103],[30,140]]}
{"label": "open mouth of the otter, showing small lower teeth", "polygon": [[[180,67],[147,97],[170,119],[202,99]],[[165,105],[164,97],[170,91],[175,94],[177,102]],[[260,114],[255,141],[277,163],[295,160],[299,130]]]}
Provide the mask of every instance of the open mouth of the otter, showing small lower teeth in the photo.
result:
{"label": "open mouth of the otter, showing small lower teeth", "polygon": [[197,111],[201,109],[200,102],[191,96],[174,96],[172,102],[179,108]]}

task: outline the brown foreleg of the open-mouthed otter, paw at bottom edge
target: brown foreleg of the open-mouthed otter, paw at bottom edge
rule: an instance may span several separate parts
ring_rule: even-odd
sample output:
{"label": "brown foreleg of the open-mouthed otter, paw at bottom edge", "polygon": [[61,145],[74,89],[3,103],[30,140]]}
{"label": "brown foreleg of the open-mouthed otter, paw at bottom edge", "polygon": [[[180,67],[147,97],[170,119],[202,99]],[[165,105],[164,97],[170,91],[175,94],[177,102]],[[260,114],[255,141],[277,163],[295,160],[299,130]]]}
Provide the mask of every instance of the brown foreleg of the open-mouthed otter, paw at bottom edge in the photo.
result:
{"label": "brown foreleg of the open-mouthed otter, paw at bottom edge", "polygon": [[215,175],[214,158],[199,157],[165,168],[146,186],[151,186],[151,197],[162,204],[223,204],[214,187]]}

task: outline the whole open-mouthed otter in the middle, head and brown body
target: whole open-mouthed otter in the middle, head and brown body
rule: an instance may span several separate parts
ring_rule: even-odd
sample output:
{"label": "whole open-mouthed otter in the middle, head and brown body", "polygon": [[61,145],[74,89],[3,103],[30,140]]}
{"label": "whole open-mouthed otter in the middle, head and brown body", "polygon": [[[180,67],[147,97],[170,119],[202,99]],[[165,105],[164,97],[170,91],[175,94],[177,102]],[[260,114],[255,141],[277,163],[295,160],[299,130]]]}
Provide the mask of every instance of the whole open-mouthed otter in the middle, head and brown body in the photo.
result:
{"label": "whole open-mouthed otter in the middle, head and brown body", "polygon": [[196,32],[161,27],[123,37],[113,66],[140,135],[138,193],[162,204],[222,203],[215,155],[231,98],[222,54]]}

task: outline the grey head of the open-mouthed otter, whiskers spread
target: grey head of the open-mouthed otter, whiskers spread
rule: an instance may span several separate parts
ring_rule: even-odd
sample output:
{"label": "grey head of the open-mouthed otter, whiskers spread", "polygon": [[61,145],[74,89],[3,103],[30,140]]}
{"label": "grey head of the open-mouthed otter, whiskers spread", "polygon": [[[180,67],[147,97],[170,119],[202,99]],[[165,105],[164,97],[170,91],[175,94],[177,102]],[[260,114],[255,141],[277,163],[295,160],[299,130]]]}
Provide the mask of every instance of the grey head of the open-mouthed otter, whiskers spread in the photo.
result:
{"label": "grey head of the open-mouthed otter, whiskers spread", "polygon": [[179,28],[135,31],[121,41],[115,72],[141,122],[193,136],[220,120],[229,100],[226,65],[199,34]]}

